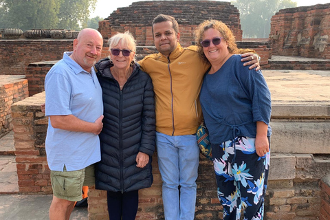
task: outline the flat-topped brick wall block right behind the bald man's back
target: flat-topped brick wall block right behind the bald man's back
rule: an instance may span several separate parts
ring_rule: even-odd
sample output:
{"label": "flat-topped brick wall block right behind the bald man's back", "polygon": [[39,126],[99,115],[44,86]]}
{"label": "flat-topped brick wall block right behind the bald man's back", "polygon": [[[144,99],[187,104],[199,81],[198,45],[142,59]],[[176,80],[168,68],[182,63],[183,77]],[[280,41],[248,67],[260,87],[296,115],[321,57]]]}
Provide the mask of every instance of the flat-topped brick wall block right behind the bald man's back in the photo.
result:
{"label": "flat-topped brick wall block right behind the bald man's back", "polygon": [[45,153],[47,118],[40,105],[45,93],[12,104],[19,192],[52,193]]}

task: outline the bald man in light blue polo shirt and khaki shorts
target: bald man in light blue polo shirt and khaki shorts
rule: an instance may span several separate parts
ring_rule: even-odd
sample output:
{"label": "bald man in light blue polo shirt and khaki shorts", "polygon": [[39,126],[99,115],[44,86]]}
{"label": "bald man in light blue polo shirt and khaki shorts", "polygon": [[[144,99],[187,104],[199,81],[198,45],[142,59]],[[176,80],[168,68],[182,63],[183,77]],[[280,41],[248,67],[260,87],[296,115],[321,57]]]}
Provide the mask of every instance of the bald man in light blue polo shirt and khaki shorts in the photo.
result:
{"label": "bald man in light blue polo shirt and khaki shorts", "polygon": [[83,186],[94,185],[94,164],[100,161],[98,134],[102,130],[102,89],[94,72],[103,39],[84,29],[74,39],[74,51],[45,77],[48,120],[45,142],[53,200],[50,219],[69,220],[75,201],[83,199]]}

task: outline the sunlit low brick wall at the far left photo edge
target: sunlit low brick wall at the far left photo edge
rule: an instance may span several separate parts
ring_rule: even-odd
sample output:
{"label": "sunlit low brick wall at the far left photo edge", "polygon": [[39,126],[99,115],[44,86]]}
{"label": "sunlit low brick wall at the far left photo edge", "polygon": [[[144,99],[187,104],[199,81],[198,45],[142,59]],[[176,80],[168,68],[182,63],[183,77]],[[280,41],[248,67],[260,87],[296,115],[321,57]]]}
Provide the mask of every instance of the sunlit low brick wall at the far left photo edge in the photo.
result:
{"label": "sunlit low brick wall at the far left photo edge", "polygon": [[0,137],[12,130],[10,106],[29,96],[24,76],[0,76]]}

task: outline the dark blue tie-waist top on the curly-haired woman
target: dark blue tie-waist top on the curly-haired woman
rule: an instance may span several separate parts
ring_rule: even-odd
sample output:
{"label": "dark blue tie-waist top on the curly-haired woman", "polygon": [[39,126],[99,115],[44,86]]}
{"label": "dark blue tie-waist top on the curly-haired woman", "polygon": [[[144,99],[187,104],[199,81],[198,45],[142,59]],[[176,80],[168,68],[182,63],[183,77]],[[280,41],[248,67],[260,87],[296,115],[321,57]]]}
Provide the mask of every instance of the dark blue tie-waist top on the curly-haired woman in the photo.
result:
{"label": "dark blue tie-waist top on the curly-haired woman", "polygon": [[201,87],[201,108],[212,144],[234,137],[256,137],[256,122],[270,128],[271,98],[261,71],[244,67],[241,55],[232,55]]}

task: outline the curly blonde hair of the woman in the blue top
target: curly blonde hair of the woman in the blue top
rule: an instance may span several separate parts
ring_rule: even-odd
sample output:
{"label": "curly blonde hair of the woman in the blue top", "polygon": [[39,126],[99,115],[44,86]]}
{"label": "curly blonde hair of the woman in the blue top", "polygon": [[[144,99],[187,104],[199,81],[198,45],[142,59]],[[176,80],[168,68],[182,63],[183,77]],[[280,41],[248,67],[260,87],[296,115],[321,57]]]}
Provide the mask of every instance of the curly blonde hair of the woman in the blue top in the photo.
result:
{"label": "curly blonde hair of the woman in the blue top", "polygon": [[199,24],[197,27],[197,30],[195,30],[195,41],[197,45],[197,52],[201,59],[205,61],[206,63],[210,63],[208,61],[208,58],[206,58],[203,47],[201,45],[201,41],[203,41],[203,34],[206,32],[206,30],[214,28],[215,30],[218,30],[220,34],[223,36],[223,41],[225,41],[228,45],[228,51],[230,54],[235,54],[237,52],[237,45],[235,43],[235,36],[232,34],[232,31],[228,28],[225,23],[222,21],[217,20],[206,20],[203,21],[203,23]]}

